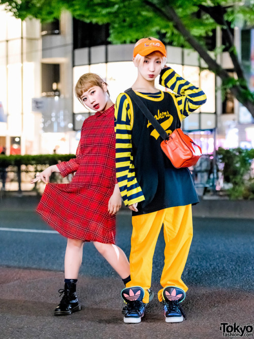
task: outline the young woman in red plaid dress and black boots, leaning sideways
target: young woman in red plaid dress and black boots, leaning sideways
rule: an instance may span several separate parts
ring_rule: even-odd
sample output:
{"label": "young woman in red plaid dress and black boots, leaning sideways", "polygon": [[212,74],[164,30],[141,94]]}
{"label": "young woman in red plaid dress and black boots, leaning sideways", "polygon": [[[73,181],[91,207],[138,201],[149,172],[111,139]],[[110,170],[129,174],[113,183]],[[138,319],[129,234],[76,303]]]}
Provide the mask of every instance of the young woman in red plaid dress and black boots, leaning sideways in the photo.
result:
{"label": "young woman in red plaid dress and black boots, leaning sideways", "polygon": [[[130,264],[115,245],[115,215],[121,207],[121,195],[115,174],[114,104],[107,83],[97,74],[80,77],[75,94],[82,104],[96,110],[81,129],[76,158],[49,166],[31,183],[42,180],[45,191],[37,212],[57,232],[65,236],[65,289],[54,315],[69,315],[81,309],[76,282],[82,262],[83,244],[94,246],[121,276],[130,281]],[[66,177],[76,172],[70,184],[51,184],[53,172]]]}

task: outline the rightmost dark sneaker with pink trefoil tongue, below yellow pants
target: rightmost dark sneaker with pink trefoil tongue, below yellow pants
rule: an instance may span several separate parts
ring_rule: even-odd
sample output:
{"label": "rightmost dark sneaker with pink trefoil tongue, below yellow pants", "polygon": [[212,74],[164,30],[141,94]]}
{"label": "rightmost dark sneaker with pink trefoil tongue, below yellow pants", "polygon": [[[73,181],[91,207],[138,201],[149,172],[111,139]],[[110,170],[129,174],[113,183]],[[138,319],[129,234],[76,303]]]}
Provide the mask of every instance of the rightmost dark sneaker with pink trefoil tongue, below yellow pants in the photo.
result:
{"label": "rightmost dark sneaker with pink trefoil tongue, below yellow pants", "polygon": [[164,315],[167,323],[179,323],[186,319],[180,302],[185,298],[185,292],[174,286],[167,286],[163,290]]}

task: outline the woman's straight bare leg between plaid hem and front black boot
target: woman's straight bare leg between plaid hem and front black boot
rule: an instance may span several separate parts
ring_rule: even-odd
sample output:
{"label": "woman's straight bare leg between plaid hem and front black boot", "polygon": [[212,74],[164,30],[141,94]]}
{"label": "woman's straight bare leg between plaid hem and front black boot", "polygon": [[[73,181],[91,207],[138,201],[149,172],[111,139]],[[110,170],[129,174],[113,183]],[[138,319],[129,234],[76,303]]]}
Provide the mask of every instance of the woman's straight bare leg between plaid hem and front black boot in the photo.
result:
{"label": "woman's straight bare leg between plaid hem and front black boot", "polygon": [[83,257],[83,240],[68,239],[65,252],[65,278],[77,279]]}

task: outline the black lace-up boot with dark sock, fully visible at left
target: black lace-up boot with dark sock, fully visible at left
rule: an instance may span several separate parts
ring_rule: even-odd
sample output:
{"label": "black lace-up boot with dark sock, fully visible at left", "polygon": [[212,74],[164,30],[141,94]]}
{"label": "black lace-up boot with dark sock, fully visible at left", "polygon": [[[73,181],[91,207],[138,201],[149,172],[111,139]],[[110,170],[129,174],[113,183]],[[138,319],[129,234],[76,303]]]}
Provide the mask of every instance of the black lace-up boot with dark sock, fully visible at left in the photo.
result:
{"label": "black lace-up boot with dark sock, fully visible at left", "polygon": [[68,316],[73,312],[81,310],[76,294],[76,283],[65,283],[65,289],[59,290],[58,292],[60,296],[63,294],[63,297],[59,305],[54,310],[54,316]]}

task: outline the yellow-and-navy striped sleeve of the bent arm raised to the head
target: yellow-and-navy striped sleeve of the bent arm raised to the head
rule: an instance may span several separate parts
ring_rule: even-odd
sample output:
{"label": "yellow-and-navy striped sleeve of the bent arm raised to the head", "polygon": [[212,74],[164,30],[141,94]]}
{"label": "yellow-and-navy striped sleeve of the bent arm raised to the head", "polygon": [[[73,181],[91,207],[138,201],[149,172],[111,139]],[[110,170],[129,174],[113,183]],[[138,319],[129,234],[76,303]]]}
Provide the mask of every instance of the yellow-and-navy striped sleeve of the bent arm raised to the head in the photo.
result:
{"label": "yellow-and-navy striped sleeve of the bent arm raised to the head", "polygon": [[180,111],[181,121],[206,102],[205,93],[194,84],[183,79],[171,67],[162,70],[160,84],[176,93],[174,96]]}

